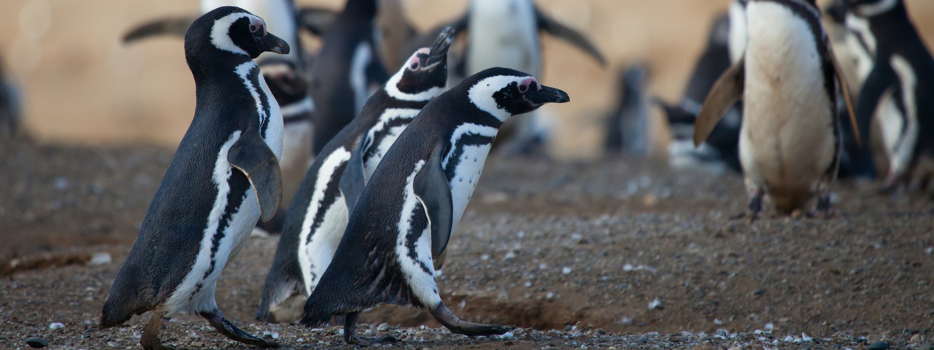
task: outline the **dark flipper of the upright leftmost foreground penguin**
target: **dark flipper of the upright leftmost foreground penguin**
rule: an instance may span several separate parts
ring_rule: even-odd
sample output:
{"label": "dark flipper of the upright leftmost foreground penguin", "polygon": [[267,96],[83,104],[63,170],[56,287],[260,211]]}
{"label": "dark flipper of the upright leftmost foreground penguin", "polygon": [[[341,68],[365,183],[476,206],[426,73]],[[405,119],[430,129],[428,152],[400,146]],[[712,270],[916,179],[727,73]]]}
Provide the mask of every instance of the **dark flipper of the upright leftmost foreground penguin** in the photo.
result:
{"label": "dark flipper of the upright leftmost foreground penguin", "polygon": [[227,151],[227,161],[247,175],[260,202],[262,222],[276,215],[282,202],[282,171],[273,150],[266,145],[260,133],[248,129]]}

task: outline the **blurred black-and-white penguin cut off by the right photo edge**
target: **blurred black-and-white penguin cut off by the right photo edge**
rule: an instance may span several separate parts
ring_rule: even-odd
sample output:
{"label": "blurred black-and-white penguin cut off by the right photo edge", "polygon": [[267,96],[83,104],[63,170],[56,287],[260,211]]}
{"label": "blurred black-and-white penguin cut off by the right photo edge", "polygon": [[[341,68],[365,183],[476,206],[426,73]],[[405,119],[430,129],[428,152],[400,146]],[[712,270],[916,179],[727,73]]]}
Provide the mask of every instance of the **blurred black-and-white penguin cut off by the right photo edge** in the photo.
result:
{"label": "blurred black-and-white penguin cut off by the right photo edge", "polygon": [[865,81],[856,119],[863,139],[869,137],[873,116],[878,119],[889,160],[884,186],[898,189],[910,180],[923,155],[934,155],[934,59],[903,1],[847,3],[852,41],[864,50],[855,51],[871,57],[870,62],[857,62]]}

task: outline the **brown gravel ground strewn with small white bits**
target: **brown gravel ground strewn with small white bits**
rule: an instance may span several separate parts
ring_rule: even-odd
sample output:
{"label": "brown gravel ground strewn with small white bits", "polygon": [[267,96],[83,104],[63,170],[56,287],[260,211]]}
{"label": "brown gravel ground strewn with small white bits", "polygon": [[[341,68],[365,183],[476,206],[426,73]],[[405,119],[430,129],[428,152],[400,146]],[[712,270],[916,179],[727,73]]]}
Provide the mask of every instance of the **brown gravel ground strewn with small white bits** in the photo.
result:
{"label": "brown gravel ground strewn with small white bits", "polygon": [[[171,158],[157,147],[0,145],[0,181],[12,189],[0,191],[0,348],[34,336],[53,348],[140,348],[148,315],[119,329],[95,320]],[[929,349],[927,195],[842,182],[835,217],[750,224],[729,219],[743,210],[742,182],[635,159],[493,157],[438,283],[461,318],[519,327],[513,337],[455,336],[396,306],[363,322],[387,323],[373,331],[398,333],[406,348]],[[285,348],[338,347],[339,329],[253,324],[276,243],[250,239],[219,281],[220,309]],[[105,252],[111,262],[92,259]],[[163,339],[244,348],[189,315]]]}

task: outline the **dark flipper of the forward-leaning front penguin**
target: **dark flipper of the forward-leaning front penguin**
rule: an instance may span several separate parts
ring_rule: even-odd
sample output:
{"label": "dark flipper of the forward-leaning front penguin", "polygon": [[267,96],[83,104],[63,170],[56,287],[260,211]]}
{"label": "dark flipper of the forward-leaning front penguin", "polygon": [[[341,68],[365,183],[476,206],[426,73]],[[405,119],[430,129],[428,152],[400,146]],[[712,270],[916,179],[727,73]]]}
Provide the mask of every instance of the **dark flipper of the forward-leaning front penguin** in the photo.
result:
{"label": "dark flipper of the forward-leaning front penguin", "polygon": [[415,195],[428,213],[432,228],[432,259],[438,259],[451,238],[451,224],[454,221],[454,202],[451,198],[451,185],[447,182],[445,170],[441,167],[444,158],[442,147],[434,147],[432,157],[413,182]]}

